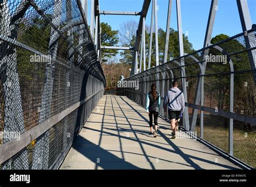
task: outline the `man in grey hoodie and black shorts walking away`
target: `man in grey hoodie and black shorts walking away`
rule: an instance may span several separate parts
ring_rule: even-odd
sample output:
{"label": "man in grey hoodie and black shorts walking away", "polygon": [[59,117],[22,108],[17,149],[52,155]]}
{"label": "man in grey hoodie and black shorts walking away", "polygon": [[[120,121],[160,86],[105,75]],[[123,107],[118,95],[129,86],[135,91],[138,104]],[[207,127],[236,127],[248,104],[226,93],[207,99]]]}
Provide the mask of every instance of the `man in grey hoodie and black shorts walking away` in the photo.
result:
{"label": "man in grey hoodie and black shorts walking away", "polygon": [[176,131],[178,128],[178,121],[183,116],[185,100],[183,92],[178,88],[178,82],[172,82],[172,88],[167,91],[164,98],[164,111],[168,105],[168,113],[171,119],[172,139],[176,138]]}

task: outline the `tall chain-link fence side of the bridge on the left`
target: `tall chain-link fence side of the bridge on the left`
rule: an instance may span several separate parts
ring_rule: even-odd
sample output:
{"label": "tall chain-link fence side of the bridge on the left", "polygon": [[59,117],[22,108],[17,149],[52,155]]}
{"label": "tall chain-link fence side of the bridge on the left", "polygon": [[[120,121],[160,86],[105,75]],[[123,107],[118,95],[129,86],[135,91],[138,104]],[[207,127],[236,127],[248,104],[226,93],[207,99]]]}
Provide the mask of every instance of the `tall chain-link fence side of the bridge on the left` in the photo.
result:
{"label": "tall chain-link fence side of the bridge on the left", "polygon": [[0,1],[0,164],[57,169],[104,95],[80,1]]}

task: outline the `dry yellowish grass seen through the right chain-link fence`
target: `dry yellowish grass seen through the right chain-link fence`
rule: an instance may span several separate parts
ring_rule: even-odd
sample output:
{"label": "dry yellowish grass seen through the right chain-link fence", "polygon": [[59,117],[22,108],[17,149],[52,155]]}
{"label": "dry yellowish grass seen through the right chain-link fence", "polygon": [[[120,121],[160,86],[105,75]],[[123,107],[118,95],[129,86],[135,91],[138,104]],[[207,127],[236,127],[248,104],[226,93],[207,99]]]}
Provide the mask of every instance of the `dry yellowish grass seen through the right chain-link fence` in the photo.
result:
{"label": "dry yellowish grass seen through the right chain-link fence", "polygon": [[[200,135],[199,123],[196,131]],[[204,140],[228,153],[228,134],[228,127],[225,128],[224,120],[210,114],[204,115]],[[233,129],[233,156],[253,168],[256,167],[255,138],[255,130],[246,131],[238,127]]]}

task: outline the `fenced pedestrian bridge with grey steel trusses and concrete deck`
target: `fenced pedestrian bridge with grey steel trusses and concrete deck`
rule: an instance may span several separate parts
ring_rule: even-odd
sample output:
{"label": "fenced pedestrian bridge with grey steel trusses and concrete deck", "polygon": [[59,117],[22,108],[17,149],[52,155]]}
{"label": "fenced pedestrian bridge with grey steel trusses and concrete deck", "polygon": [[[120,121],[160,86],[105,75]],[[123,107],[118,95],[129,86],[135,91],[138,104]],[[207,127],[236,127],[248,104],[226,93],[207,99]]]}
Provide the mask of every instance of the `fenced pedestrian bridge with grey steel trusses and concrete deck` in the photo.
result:
{"label": "fenced pedestrian bridge with grey steel trusses and concrete deck", "polygon": [[[126,12],[100,10],[99,1],[91,0],[89,23],[87,0],[0,0],[2,170],[255,168],[256,27],[246,0],[236,1],[243,32],[215,44],[218,0],[211,0],[204,46],[190,54],[184,52],[176,0],[174,59],[169,34],[164,54],[158,51],[157,0],[142,2],[134,4],[139,12]],[[172,1],[166,2],[170,33]],[[102,46],[100,15],[139,16],[134,46]],[[146,18],[151,18],[147,54]],[[138,81],[138,89],[105,94],[102,49],[132,50],[130,76],[121,84]],[[209,59],[217,55],[224,55],[225,63]],[[173,80],[185,97],[178,137],[170,139],[161,102],[159,136],[153,138],[143,107],[146,94],[156,83],[163,101]]]}

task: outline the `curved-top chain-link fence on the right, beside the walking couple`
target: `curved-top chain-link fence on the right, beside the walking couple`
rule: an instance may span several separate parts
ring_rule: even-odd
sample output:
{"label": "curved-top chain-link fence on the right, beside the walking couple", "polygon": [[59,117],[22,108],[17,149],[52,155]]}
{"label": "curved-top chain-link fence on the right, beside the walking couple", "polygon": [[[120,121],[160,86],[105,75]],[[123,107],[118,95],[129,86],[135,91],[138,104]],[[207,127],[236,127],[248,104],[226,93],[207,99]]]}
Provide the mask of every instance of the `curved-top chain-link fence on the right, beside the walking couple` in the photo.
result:
{"label": "curved-top chain-link fence on the right, beside the walking couple", "polygon": [[[159,114],[167,119],[163,99],[177,80],[185,96],[183,128],[245,168],[255,168],[255,34],[250,30],[235,35],[128,77],[117,94],[145,106],[151,84],[156,83]],[[134,81],[139,81],[138,89]]]}

